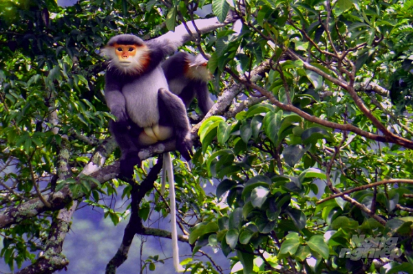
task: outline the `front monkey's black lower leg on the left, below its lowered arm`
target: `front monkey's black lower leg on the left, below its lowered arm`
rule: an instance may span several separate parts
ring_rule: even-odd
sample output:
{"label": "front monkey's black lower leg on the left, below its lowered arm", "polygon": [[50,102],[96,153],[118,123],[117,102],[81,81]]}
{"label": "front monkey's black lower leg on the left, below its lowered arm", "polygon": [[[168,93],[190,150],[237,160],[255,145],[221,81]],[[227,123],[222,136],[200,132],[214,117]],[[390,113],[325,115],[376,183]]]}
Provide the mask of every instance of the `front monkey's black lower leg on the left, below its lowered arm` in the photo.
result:
{"label": "front monkey's black lower leg on the left, below its lowered arm", "polygon": [[120,157],[120,176],[125,179],[132,179],[134,166],[140,164],[138,156],[139,147],[136,146],[134,139],[139,136],[138,129],[129,130],[118,122],[110,123],[110,130],[115,136],[122,155]]}

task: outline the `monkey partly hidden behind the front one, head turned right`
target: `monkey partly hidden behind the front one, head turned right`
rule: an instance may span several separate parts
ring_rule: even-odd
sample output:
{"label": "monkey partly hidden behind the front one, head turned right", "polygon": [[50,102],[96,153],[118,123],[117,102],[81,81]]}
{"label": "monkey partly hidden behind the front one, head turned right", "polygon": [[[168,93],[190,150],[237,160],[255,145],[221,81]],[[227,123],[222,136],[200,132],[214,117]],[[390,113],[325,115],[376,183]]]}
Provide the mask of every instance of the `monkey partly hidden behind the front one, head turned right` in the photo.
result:
{"label": "monkey partly hidden behind the front one, head turned right", "polygon": [[211,74],[207,63],[208,60],[201,54],[193,56],[187,52],[178,52],[162,64],[169,90],[178,95],[187,107],[196,95],[198,106],[204,115],[214,104],[209,97],[208,82]]}

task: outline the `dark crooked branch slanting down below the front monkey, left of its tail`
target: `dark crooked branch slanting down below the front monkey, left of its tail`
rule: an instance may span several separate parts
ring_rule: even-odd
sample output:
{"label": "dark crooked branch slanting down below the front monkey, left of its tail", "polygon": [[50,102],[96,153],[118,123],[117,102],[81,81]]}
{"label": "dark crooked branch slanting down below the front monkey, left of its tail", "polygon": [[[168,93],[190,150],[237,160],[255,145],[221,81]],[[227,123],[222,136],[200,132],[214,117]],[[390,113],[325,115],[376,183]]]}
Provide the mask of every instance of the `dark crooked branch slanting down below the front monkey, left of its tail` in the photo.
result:
{"label": "dark crooked branch slanting down below the front monkey, left of its tail", "polygon": [[120,244],[118,251],[106,266],[106,274],[116,273],[116,269],[127,260],[127,254],[129,253],[129,248],[131,247],[135,234],[142,234],[142,232],[145,231],[145,228],[142,225],[142,218],[139,216],[140,201],[142,201],[145,194],[153,188],[161,169],[162,157],[158,159],[156,165],[153,165],[153,168],[151,168],[148,176],[142,181],[142,183],[140,183],[140,185],[132,183],[131,217],[129,218],[129,222],[125,228],[122,244]]}

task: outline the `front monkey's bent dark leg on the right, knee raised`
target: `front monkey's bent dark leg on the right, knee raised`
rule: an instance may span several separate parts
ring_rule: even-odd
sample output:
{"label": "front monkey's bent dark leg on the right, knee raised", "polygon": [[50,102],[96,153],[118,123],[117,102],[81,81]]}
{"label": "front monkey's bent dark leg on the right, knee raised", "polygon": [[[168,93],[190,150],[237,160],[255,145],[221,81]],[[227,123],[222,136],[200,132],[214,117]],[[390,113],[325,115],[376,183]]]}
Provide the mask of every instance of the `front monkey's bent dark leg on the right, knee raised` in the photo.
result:
{"label": "front monkey's bent dark leg on the right, knee raised", "polygon": [[158,103],[160,122],[162,119],[169,119],[172,122],[176,135],[176,149],[187,161],[191,160],[191,128],[184,103],[167,89],[159,89]]}

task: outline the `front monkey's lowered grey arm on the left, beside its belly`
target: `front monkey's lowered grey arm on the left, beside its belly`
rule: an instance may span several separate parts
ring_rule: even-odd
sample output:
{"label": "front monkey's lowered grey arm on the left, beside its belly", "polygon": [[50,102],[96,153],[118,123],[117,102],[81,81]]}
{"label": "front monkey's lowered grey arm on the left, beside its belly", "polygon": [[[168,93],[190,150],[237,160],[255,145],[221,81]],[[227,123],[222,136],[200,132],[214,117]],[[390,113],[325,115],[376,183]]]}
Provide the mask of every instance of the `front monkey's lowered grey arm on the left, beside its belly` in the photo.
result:
{"label": "front monkey's lowered grey arm on the left, beside its belly", "polygon": [[116,116],[117,122],[127,122],[125,97],[120,92],[120,85],[113,73],[107,71],[105,84],[105,100],[110,112]]}

